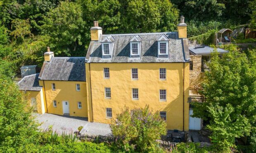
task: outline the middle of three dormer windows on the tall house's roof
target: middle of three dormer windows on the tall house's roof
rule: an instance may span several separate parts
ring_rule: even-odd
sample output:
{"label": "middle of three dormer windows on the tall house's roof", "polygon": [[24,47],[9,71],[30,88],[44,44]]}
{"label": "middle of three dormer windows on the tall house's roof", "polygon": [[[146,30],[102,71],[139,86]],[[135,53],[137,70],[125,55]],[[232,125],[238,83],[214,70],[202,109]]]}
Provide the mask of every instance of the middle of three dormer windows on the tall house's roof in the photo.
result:
{"label": "middle of three dormer windows on the tall house's roof", "polygon": [[138,35],[135,35],[132,39],[130,39],[130,57],[131,58],[140,58],[141,41],[142,39]]}

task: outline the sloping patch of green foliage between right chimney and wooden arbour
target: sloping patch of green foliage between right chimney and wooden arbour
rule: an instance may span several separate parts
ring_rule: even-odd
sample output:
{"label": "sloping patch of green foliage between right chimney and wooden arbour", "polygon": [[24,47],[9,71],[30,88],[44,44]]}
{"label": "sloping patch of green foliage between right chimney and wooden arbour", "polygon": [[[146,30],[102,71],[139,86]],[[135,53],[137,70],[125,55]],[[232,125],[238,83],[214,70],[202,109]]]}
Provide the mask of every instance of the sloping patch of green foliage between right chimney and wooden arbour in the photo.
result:
{"label": "sloping patch of green foliage between right chimney and wooden arbour", "polygon": [[189,39],[193,42],[193,41],[196,41],[198,44],[206,44],[206,45],[209,45],[209,44],[213,44],[215,41],[215,33],[217,31],[216,30],[210,30],[209,32],[206,32],[202,35],[198,35],[198,36],[195,36],[195,37],[190,37]]}

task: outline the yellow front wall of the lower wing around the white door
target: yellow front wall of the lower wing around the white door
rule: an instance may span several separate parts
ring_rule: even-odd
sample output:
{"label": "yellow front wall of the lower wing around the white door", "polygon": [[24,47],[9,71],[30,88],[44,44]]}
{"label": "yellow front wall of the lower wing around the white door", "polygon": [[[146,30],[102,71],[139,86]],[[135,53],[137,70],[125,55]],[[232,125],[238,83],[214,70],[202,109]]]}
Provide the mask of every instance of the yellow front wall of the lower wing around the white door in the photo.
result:
{"label": "yellow front wall of the lower wing around the white door", "polygon": [[[44,83],[43,83],[44,82]],[[52,90],[52,83],[55,83],[56,90]],[[45,102],[47,113],[63,115],[62,101],[69,102],[70,116],[87,117],[87,91],[85,81],[42,81],[44,84]],[[80,91],[76,91],[76,84],[80,84]],[[57,101],[57,107],[53,107],[53,100]],[[78,109],[77,102],[82,103],[82,109]]]}

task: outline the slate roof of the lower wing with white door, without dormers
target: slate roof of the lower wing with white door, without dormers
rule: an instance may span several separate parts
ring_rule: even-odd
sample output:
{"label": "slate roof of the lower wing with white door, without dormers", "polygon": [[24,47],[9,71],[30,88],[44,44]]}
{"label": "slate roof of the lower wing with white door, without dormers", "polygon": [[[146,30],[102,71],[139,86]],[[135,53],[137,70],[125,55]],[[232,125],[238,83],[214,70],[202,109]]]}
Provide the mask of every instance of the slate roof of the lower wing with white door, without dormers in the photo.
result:
{"label": "slate roof of the lower wing with white door, without dormers", "polygon": [[39,79],[86,81],[85,57],[53,57],[44,62]]}

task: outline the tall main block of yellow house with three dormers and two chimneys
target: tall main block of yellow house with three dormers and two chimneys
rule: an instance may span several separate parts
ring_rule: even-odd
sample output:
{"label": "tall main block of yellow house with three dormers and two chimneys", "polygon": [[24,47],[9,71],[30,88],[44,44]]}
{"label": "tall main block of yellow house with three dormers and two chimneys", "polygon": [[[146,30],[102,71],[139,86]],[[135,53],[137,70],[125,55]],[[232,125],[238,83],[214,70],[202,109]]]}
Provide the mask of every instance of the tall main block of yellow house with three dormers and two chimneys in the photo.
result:
{"label": "tall main block of yellow house with three dormers and two chimneys", "polygon": [[188,130],[189,51],[183,18],[179,26],[178,32],[99,37],[91,29],[88,121],[111,123],[126,107],[132,111],[149,105],[160,111],[168,129]]}

